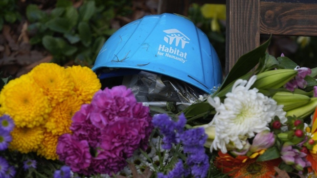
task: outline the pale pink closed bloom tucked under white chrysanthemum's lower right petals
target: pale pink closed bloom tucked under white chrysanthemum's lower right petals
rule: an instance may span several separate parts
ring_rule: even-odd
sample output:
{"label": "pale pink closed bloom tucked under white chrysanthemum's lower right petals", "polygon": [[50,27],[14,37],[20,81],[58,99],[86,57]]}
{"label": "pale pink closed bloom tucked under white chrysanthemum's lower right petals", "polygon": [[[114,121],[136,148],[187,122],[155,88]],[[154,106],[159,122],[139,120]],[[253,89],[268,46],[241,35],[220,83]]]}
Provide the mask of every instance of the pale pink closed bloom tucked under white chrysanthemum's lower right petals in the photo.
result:
{"label": "pale pink closed bloom tucked under white chrysanthemum's lower right petals", "polygon": [[273,146],[275,143],[275,137],[273,132],[269,132],[268,130],[262,131],[258,133],[254,139],[253,143],[250,147],[251,152],[257,152],[262,149],[267,149]]}

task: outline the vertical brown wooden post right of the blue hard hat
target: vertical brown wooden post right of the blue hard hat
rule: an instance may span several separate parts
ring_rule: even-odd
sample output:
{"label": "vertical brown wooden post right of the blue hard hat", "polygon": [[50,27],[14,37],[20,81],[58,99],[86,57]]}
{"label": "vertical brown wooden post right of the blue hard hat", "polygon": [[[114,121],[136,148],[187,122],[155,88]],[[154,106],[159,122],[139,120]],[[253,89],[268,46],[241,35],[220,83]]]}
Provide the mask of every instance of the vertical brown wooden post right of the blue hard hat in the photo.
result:
{"label": "vertical brown wooden post right of the blue hard hat", "polygon": [[227,0],[226,6],[225,73],[228,74],[239,57],[260,45],[260,0]]}

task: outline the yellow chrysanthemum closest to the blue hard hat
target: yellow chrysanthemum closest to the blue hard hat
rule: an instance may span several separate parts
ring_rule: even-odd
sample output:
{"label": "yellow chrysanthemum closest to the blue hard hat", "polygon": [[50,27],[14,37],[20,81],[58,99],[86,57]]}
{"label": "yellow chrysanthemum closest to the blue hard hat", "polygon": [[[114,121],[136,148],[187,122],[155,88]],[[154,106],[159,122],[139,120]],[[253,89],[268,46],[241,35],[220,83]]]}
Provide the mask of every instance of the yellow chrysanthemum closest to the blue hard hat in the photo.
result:
{"label": "yellow chrysanthemum closest to the blue hard hat", "polygon": [[101,88],[100,80],[88,67],[72,66],[66,68],[75,83],[74,91],[84,103],[90,103],[94,94]]}

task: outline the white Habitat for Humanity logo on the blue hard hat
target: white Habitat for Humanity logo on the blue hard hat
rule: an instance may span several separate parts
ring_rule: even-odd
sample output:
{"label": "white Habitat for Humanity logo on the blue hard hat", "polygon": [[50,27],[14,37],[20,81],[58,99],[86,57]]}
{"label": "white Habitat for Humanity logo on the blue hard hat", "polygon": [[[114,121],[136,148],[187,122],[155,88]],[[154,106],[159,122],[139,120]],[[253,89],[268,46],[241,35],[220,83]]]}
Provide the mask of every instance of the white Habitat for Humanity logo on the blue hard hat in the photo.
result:
{"label": "white Habitat for Humanity logo on the blue hard hat", "polygon": [[[165,55],[166,57],[185,63],[187,61],[187,53],[182,52],[182,49],[184,49],[185,45],[189,43],[190,39],[177,29],[163,30],[163,32],[167,34],[164,36],[164,41],[168,44],[160,44],[157,55]],[[176,47],[182,47],[182,49],[179,50],[174,46],[172,47],[172,44]]]}

